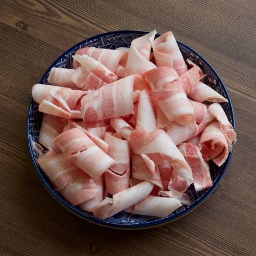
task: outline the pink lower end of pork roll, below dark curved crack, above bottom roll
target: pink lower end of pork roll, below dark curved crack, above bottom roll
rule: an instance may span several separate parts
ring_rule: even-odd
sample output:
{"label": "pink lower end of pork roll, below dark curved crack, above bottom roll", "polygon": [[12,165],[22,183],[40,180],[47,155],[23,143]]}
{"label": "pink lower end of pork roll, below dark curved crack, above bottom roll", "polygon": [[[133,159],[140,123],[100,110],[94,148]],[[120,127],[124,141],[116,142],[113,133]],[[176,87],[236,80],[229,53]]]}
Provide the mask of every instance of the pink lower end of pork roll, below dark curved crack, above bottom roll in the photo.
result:
{"label": "pink lower end of pork roll, below dark curved crack, above bottom roll", "polygon": [[104,173],[107,192],[114,195],[129,188],[130,167],[122,175],[108,170]]}

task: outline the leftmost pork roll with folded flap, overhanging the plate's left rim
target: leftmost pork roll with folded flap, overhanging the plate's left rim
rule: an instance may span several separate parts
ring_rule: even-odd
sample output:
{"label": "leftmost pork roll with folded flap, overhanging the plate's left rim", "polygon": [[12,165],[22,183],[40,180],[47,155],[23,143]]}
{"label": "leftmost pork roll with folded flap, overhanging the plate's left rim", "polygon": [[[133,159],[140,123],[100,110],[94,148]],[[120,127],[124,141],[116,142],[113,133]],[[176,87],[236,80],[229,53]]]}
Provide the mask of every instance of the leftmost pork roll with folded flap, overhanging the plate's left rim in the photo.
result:
{"label": "leftmost pork roll with folded flap, overhanging the plate's left rim", "polygon": [[71,118],[72,111],[80,107],[80,100],[87,92],[66,87],[37,84],[32,87],[33,99],[39,103],[39,111]]}

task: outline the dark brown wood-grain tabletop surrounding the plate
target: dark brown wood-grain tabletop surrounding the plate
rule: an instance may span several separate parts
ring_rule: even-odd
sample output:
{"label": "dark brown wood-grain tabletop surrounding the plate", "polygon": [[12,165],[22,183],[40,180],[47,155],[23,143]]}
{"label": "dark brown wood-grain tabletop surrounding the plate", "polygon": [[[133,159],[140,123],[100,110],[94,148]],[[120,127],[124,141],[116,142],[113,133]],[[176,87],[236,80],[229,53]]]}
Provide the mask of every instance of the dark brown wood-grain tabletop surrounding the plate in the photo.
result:
{"label": "dark brown wood-grain tabletop surrounding the plate", "polygon": [[[1,255],[255,255],[256,1],[0,0]],[[116,231],[74,216],[39,181],[25,125],[31,87],[67,48],[118,29],[172,30],[231,95],[238,142],[217,191],[172,224]]]}

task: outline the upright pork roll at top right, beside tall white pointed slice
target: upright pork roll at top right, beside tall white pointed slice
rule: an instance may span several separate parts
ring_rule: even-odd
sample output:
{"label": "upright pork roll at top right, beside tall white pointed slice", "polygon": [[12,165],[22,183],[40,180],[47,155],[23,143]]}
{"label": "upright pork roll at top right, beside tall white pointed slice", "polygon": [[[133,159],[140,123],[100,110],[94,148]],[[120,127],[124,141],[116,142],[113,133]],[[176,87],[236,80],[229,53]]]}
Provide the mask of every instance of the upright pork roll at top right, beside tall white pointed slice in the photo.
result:
{"label": "upright pork roll at top right, beside tall white pointed slice", "polygon": [[157,67],[174,68],[178,74],[188,70],[172,32],[166,32],[153,42]]}

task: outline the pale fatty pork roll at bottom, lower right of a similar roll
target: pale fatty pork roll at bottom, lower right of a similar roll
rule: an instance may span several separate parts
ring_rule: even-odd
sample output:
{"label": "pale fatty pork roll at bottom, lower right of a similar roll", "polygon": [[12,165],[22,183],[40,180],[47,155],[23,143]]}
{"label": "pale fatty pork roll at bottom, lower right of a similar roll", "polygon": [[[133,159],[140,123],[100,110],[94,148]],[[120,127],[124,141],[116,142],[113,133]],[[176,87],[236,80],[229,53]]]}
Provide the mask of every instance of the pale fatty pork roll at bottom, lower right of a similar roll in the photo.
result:
{"label": "pale fatty pork roll at bottom, lower right of a similar roll", "polygon": [[176,198],[148,196],[137,204],[125,209],[128,213],[165,218],[182,204]]}

